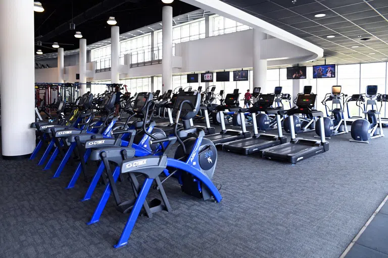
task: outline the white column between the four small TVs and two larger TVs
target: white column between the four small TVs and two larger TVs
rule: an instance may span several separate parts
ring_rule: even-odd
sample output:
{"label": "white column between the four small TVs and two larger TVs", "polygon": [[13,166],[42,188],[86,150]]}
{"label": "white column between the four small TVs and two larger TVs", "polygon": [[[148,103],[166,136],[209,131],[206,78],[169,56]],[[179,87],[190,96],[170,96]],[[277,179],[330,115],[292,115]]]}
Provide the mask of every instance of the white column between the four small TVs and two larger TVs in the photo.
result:
{"label": "white column between the four small TVs and two larger TVs", "polygon": [[261,92],[267,93],[267,59],[260,59],[260,41],[267,35],[253,29],[253,87],[261,87]]}

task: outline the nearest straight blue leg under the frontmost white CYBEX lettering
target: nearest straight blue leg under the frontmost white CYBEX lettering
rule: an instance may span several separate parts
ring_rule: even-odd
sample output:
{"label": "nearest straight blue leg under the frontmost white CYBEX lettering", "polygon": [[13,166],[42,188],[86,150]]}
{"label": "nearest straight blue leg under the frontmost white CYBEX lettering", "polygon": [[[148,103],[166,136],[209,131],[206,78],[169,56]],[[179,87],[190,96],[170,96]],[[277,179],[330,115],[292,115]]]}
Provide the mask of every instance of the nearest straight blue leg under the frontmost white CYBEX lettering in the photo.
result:
{"label": "nearest straight blue leg under the frontmost white CYBEX lettering", "polygon": [[146,201],[146,197],[148,195],[148,192],[151,188],[152,182],[154,179],[147,178],[143,186],[141,187],[139,196],[136,198],[135,205],[132,208],[131,214],[129,215],[129,218],[127,220],[127,223],[125,224],[124,230],[121,233],[120,239],[113,247],[118,248],[121,246],[124,246],[128,243],[128,238],[131,235],[132,229],[135,226],[135,222],[137,220],[137,217],[139,216],[140,210],[143,207],[143,203]]}

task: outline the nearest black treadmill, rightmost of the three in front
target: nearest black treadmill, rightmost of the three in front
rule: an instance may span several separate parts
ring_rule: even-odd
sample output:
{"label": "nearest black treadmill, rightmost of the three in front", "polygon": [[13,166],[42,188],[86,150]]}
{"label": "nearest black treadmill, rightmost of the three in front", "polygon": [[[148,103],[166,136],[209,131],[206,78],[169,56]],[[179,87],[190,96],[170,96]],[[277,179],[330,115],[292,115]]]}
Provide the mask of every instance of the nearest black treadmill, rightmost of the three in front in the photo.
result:
{"label": "nearest black treadmill, rightmost of the three in front", "polygon": [[281,110],[279,112],[288,115],[290,124],[294,124],[294,114],[308,114],[313,117],[319,117],[321,131],[320,140],[296,138],[295,128],[294,126],[290,126],[290,142],[261,150],[259,153],[263,158],[296,164],[301,160],[329,150],[329,143],[325,139],[323,112],[312,109],[316,97],[317,95],[315,94],[300,94],[297,99],[296,107],[286,111]]}

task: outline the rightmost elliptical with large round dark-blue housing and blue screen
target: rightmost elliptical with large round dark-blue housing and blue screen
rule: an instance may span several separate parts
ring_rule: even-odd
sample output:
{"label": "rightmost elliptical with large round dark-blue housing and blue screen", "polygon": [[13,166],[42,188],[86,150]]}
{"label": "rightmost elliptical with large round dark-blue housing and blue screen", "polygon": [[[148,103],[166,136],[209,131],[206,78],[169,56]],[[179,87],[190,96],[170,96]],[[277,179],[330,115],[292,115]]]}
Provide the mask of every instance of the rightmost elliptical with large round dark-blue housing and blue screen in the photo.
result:
{"label": "rightmost elliptical with large round dark-blue housing and blue screen", "polygon": [[[361,106],[361,99],[364,95],[366,99],[365,109]],[[380,118],[382,98],[381,96],[378,97],[378,95],[377,85],[366,86],[366,94],[360,94],[359,101],[356,103],[357,106],[362,109],[362,113],[365,114],[365,118],[357,119],[352,123],[350,133],[353,139],[350,139],[349,141],[356,143],[369,143],[370,139],[384,137]],[[377,98],[380,99],[379,110],[377,110]],[[369,105],[371,106],[371,109],[368,110]]]}

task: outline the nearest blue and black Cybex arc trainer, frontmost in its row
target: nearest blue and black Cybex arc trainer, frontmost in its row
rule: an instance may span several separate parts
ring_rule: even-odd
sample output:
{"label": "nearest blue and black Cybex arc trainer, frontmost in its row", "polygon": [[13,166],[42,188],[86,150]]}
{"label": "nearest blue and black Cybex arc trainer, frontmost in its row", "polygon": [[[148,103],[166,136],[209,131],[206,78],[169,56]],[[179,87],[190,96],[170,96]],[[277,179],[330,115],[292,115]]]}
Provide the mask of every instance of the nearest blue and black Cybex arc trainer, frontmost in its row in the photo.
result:
{"label": "nearest blue and black Cybex arc trainer, frontmost in its row", "polygon": [[[96,149],[91,156],[107,163],[113,161],[116,164],[114,171],[109,171],[109,182],[106,185],[103,196],[95,209],[90,222],[93,224],[99,221],[100,216],[113,192],[117,210],[130,213],[127,223],[121,233],[121,237],[114,247],[121,247],[127,244],[135,222],[143,210],[151,217],[157,211],[170,211],[163,183],[172,176],[178,179],[181,189],[186,194],[203,199],[220,202],[222,197],[212,182],[212,177],[217,164],[217,149],[214,144],[204,138],[205,134],[199,128],[191,128],[189,119],[194,117],[200,106],[200,94],[198,92],[181,92],[176,100],[174,110],[177,111],[173,136],[154,139],[150,144],[162,144],[163,154],[161,156],[133,157],[133,149],[127,147],[106,147],[107,149]],[[182,118],[184,127],[178,131],[178,121]],[[185,140],[182,140],[186,138]],[[178,142],[179,146],[175,151],[174,158],[167,154],[172,145]],[[107,166],[108,167],[108,166]],[[161,181],[163,174],[168,174]],[[121,202],[116,187],[116,181],[120,175],[127,175],[131,180],[134,191],[134,200]],[[137,177],[143,176],[142,185],[138,184]],[[154,187],[152,187],[155,181]],[[148,201],[150,190],[158,190],[162,200],[154,199]]]}

